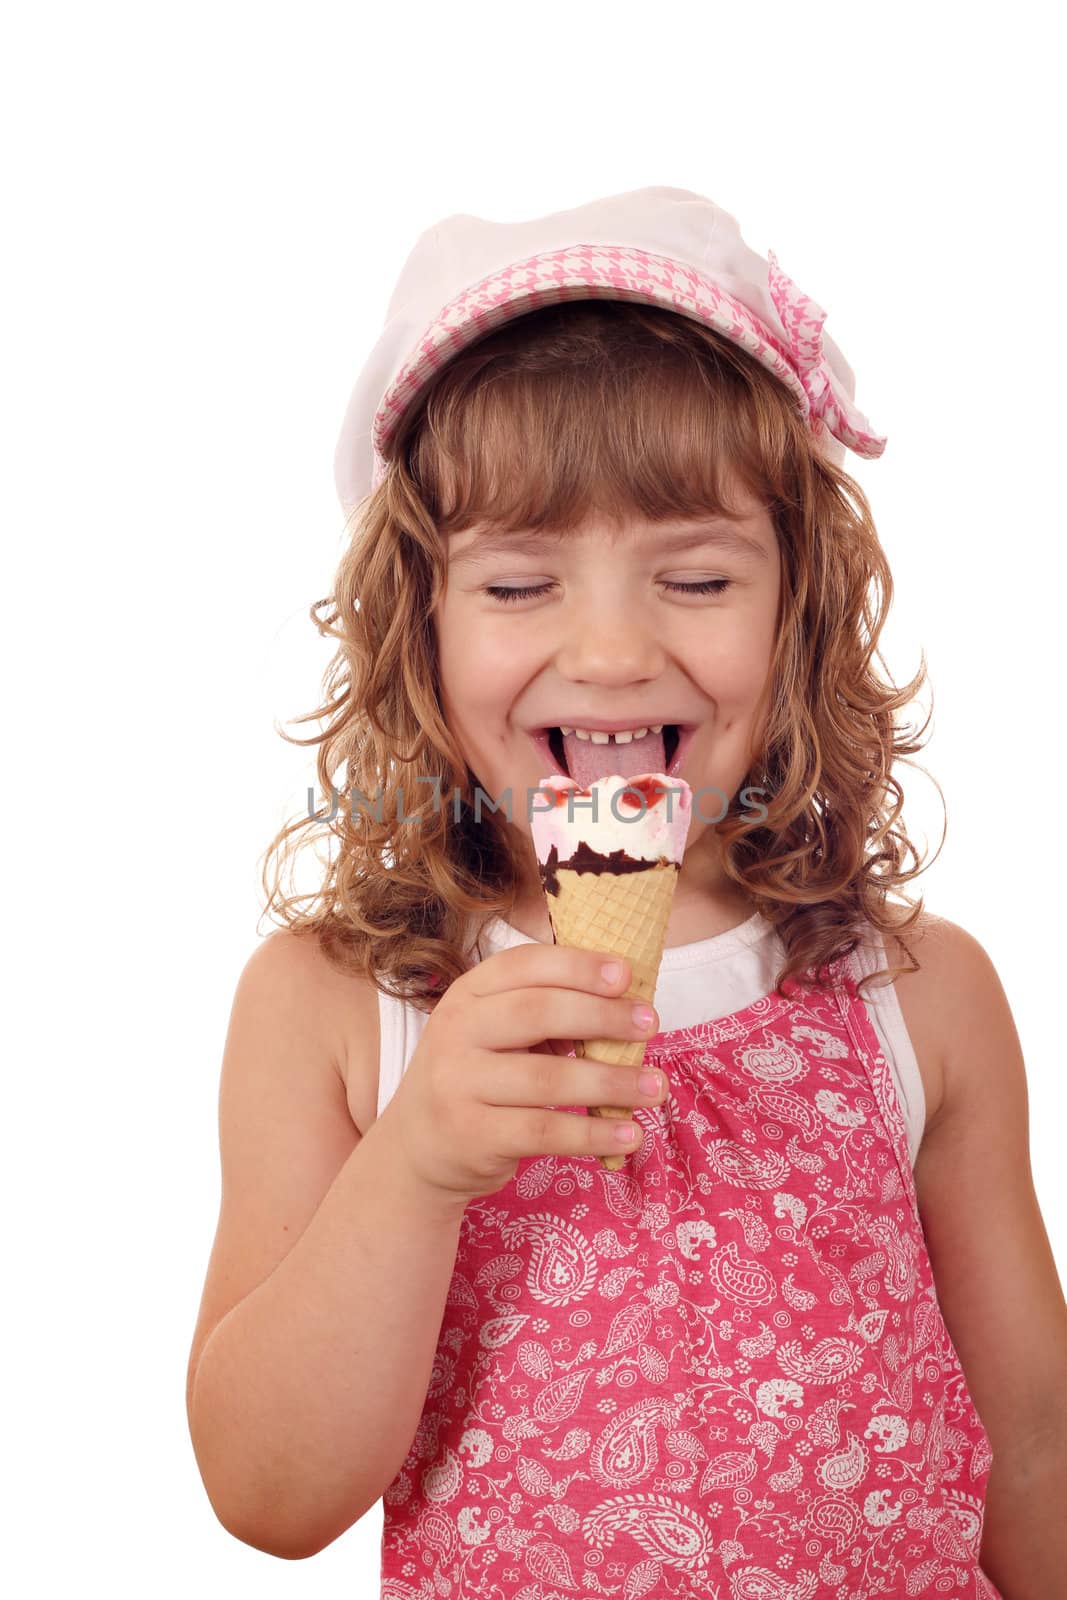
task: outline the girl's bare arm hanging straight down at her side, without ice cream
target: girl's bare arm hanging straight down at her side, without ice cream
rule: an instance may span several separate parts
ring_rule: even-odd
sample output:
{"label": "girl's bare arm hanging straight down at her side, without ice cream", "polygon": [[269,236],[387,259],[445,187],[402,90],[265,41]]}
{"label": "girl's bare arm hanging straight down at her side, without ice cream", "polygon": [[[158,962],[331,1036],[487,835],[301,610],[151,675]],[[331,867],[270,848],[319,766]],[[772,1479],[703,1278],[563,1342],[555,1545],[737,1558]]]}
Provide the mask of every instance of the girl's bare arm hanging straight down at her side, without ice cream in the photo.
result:
{"label": "girl's bare arm hanging straight down at her side, without ice cream", "polygon": [[1005,1600],[1057,1594],[1067,1563],[1067,1304],[1033,1189],[1022,1046],[997,968],[941,920],[944,1101],[915,1163],[937,1301],[989,1434],[982,1571]]}

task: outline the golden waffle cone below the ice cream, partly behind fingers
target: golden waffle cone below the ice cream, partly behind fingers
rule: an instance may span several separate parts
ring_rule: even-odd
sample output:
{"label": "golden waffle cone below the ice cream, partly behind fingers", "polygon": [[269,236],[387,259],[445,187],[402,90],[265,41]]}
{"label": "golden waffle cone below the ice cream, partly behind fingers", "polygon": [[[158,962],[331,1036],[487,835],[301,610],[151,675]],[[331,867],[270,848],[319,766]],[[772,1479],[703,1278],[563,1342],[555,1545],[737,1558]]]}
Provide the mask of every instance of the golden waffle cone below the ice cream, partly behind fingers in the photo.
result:
{"label": "golden waffle cone below the ice cream, partly behind fingers", "polygon": [[[678,866],[659,861],[643,872],[573,872],[557,867],[560,893],[545,894],[549,918],[557,944],[577,950],[609,950],[625,957],[632,968],[630,1000],[656,998],[656,979],[664,954],[667,920],[678,883]],[[611,1061],[621,1067],[640,1067],[645,1059],[640,1038],[574,1040],[577,1056]],[[629,1122],[630,1106],[590,1106],[590,1117],[621,1117]],[[601,1155],[600,1162],[617,1171],[624,1155]]]}

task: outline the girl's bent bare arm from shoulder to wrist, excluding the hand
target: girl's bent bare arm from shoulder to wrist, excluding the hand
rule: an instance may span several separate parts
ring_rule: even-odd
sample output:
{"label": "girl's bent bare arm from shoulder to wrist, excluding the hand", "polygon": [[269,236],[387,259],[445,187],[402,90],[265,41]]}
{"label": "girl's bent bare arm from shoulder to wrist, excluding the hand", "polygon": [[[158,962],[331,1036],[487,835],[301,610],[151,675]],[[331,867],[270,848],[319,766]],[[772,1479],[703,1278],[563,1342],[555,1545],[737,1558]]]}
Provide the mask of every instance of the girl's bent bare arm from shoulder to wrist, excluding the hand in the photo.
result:
{"label": "girl's bent bare arm from shoulder to wrist, excluding the hand", "polygon": [[378,1061],[378,992],[277,931],[234,997],[222,1195],[186,1402],[216,1517],[310,1555],[382,1493],[429,1386],[462,1206],[365,1138],[349,1082]]}

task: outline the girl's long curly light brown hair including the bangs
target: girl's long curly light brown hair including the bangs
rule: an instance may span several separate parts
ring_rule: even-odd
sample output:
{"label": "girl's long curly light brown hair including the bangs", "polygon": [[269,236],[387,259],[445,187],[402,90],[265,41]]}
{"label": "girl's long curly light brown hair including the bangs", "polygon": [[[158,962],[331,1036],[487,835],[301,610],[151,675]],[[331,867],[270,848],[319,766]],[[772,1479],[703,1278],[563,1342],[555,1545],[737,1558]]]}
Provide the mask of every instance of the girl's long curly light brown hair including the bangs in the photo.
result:
{"label": "girl's long curly light brown hair including the bangs", "polygon": [[[336,653],[325,702],[294,722],[325,728],[282,738],[318,747],[330,803],[269,845],[264,910],[315,936],[336,968],[432,1010],[485,923],[507,918],[528,850],[494,811],[475,824],[477,779],[442,717],[434,611],[448,536],[474,523],[573,530],[595,514],[729,515],[728,475],[773,517],[782,582],[763,749],[715,824],[723,870],[782,939],[781,994],[800,976],[825,984],[864,920],[901,938],[923,902],[907,901],[901,920],[888,896],[925,867],[893,766],[923,747],[933,706],[920,730],[897,726],[926,682],[925,656],[904,688],[872,666],[885,666],[893,578],[867,499],[737,344],[616,299],[506,323],[459,352],[403,419],[384,480],[352,514],[333,592],[309,611]],[[440,774],[437,800],[418,786],[427,773]],[[747,784],[769,795],[765,818],[739,802]],[[322,837],[322,882],[285,894],[283,867]],[[901,942],[913,965],[878,976],[918,970]]]}

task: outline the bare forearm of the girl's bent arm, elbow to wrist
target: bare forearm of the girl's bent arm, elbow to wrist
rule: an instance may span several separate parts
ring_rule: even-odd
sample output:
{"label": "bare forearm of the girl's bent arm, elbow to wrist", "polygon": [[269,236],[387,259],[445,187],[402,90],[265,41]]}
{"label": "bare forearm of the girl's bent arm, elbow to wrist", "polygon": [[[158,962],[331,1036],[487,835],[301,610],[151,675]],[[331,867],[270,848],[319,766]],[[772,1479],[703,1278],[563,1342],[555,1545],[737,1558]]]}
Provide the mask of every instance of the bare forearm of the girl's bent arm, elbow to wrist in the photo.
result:
{"label": "bare forearm of the girl's bent arm, elbow to wrist", "polygon": [[290,1254],[203,1347],[197,1461],[224,1526],[272,1555],[339,1538],[411,1448],[462,1206],[408,1171],[382,1115]]}

